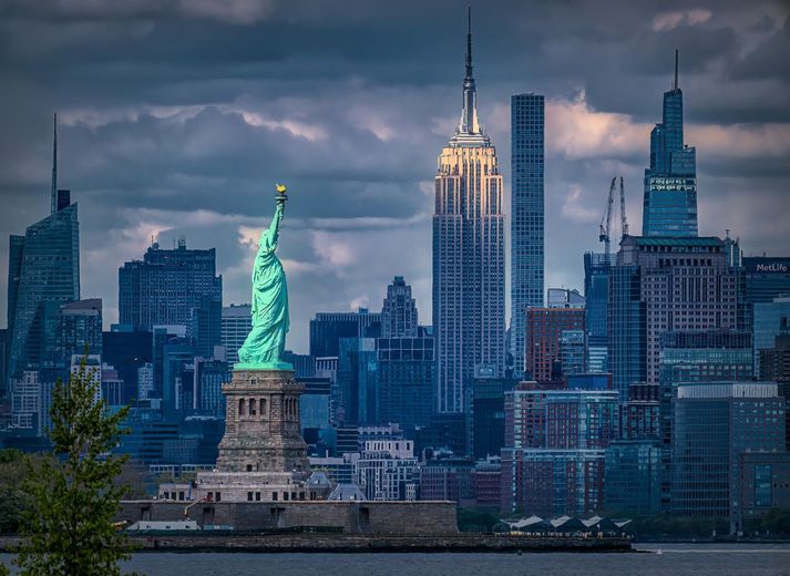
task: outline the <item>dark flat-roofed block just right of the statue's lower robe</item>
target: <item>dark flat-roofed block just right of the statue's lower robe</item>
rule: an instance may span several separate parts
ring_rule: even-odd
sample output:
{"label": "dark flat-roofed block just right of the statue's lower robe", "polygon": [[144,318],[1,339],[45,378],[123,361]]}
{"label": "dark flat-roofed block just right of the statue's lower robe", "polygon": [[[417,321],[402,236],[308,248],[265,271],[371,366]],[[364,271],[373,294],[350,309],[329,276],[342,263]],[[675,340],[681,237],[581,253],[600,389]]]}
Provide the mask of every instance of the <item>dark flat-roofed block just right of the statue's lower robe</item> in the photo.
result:
{"label": "dark flat-roofed block just right of the statue's lower robe", "polygon": [[318,312],[310,320],[310,356],[337,358],[341,338],[381,337],[381,313],[360,308],[356,312]]}

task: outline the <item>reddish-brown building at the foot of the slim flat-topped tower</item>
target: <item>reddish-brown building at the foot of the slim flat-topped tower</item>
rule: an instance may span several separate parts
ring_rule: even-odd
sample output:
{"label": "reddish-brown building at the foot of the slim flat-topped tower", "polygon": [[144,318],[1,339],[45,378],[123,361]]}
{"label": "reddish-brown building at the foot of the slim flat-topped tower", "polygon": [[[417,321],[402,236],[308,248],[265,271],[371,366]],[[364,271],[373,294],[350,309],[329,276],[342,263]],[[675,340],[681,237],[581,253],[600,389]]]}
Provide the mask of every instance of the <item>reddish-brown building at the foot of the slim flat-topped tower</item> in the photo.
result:
{"label": "reddish-brown building at the foot of the slim flat-topped tower", "polygon": [[584,331],[584,308],[530,308],[526,311],[524,356],[526,372],[533,380],[543,382],[560,377],[564,330]]}

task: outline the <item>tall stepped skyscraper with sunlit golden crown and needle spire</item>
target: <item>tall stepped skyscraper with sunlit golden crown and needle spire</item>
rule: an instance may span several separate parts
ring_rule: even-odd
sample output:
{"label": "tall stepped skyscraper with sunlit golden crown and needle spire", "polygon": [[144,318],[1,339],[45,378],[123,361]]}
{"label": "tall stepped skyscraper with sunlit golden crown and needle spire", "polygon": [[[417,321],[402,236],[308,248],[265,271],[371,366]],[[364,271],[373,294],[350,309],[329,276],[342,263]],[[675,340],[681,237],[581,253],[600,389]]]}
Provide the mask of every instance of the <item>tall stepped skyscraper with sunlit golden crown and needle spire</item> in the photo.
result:
{"label": "tall stepped skyscraper with sunlit golden crown and needle spire", "polygon": [[433,215],[437,408],[450,413],[463,411],[475,374],[503,376],[505,359],[502,176],[475,99],[470,16],[463,111],[439,156]]}

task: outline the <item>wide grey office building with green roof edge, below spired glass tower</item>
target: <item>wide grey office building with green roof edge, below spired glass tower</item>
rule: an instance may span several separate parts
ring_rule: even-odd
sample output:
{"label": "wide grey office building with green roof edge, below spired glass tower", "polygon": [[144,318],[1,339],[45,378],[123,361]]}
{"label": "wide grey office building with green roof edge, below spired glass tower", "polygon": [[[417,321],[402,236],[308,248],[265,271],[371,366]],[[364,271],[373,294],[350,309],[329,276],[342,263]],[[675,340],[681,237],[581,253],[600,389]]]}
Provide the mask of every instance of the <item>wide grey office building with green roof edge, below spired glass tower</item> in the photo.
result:
{"label": "wide grey office building with green roof edge, below spired glass tower", "polygon": [[[659,380],[661,335],[742,327],[732,240],[626,236],[609,276],[609,368],[625,397]],[[737,245],[735,245],[737,247]]]}

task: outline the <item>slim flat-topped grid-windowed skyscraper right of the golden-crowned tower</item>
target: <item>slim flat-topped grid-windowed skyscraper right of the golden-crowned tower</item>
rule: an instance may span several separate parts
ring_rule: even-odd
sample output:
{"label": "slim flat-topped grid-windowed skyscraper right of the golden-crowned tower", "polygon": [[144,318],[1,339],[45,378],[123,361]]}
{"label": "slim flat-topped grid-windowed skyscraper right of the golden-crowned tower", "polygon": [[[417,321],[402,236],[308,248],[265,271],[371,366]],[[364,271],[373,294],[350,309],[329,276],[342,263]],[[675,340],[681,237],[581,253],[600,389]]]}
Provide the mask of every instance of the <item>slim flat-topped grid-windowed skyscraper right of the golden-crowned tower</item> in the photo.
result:
{"label": "slim flat-topped grid-windowed skyscraper right of the golden-crowned tower", "polygon": [[526,309],[543,306],[544,96],[511,97],[511,342],[516,377],[524,371]]}

